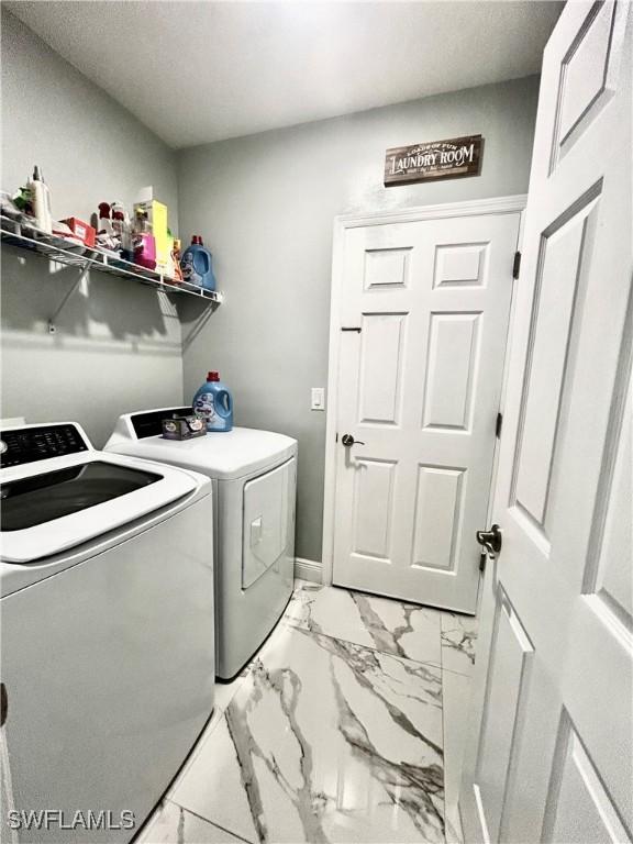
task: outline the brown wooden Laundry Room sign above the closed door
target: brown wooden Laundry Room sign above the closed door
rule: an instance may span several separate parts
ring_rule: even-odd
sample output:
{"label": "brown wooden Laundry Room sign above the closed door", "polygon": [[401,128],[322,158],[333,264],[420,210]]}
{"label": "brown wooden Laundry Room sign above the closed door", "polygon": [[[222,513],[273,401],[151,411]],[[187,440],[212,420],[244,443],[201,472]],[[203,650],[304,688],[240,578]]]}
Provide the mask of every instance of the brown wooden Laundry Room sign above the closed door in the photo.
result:
{"label": "brown wooden Laundry Room sign above the closed door", "polygon": [[385,187],[413,185],[431,179],[478,176],[481,135],[452,137],[413,146],[395,146],[385,157]]}

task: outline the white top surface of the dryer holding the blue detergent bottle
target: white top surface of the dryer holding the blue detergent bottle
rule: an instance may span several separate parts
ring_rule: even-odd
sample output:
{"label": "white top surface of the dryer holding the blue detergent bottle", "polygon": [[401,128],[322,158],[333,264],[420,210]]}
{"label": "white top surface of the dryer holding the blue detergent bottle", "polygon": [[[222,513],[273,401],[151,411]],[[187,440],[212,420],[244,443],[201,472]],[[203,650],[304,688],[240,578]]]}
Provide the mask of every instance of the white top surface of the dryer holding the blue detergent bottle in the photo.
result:
{"label": "white top surface of the dryer holding the blue detergent bottle", "polygon": [[297,452],[297,441],[292,437],[252,427],[218,431],[193,440],[164,440],[162,436],[138,440],[133,427],[124,424],[130,418],[119,420],[106,451],[170,463],[219,480],[233,480],[277,466]]}

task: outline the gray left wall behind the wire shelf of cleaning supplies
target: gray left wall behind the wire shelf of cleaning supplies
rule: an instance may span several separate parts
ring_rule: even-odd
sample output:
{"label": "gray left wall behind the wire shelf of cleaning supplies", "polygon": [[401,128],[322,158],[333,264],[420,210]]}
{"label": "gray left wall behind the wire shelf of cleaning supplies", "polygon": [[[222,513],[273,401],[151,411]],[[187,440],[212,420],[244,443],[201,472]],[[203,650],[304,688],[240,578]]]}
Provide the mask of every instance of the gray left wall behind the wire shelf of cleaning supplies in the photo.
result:
{"label": "gray left wall behind the wire shelf of cleaning supplies", "polygon": [[[53,214],[90,220],[154,185],[178,219],[174,153],[2,10],[1,186],[40,164]],[[180,323],[148,287],[93,273],[51,336],[46,323],[77,270],[2,248],[2,417],[78,420],[97,445],[119,413],[182,400]]]}

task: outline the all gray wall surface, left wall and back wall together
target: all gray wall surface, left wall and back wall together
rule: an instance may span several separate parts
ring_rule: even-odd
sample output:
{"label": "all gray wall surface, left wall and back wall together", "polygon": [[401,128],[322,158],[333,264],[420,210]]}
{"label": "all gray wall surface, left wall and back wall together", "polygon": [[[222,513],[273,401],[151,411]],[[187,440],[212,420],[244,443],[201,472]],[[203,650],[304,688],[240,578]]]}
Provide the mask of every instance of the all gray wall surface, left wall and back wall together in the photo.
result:
{"label": "all gray wall surface, left wall and back wall together", "polygon": [[[3,417],[76,419],[97,445],[119,413],[188,400],[209,368],[233,389],[238,424],[300,444],[297,553],[321,558],[332,223],[336,214],[528,189],[537,78],[475,88],[175,154],[2,10],[1,186],[40,164],[57,219],[154,185],[173,231],[204,235],[226,303],[191,342],[198,303],[92,274],[49,335],[77,271],[2,249]],[[385,189],[385,149],[485,136],[477,178]],[[178,221],[178,197],[180,215]],[[182,389],[184,385],[184,389]]]}

